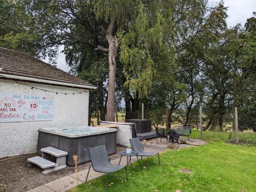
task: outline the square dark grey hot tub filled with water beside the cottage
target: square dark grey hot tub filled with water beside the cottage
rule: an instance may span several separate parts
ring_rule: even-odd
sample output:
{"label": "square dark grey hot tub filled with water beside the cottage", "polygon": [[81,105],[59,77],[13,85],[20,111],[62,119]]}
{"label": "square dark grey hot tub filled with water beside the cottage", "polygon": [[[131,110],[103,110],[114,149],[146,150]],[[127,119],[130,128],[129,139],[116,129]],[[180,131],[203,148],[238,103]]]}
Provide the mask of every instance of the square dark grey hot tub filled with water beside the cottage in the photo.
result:
{"label": "square dark grey hot tub filled with water beside the cottage", "polygon": [[74,166],[73,155],[80,157],[79,164],[90,161],[89,148],[106,146],[107,153],[116,153],[116,132],[114,128],[90,126],[39,128],[37,154],[41,148],[53,147],[67,151],[67,165]]}

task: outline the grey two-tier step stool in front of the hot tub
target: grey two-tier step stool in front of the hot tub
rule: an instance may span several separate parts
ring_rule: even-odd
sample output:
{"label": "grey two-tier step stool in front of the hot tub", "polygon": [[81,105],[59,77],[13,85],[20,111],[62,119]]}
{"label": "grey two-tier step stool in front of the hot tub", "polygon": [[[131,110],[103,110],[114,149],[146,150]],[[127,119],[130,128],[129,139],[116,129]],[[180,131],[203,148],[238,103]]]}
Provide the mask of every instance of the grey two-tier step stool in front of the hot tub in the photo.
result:
{"label": "grey two-tier step stool in front of the hot tub", "polygon": [[[33,166],[34,164],[44,169],[42,174],[52,173],[67,167],[66,156],[68,152],[55,149],[52,147],[42,148],[42,156],[28,158],[28,166]],[[51,156],[56,157],[56,163],[50,161]]]}

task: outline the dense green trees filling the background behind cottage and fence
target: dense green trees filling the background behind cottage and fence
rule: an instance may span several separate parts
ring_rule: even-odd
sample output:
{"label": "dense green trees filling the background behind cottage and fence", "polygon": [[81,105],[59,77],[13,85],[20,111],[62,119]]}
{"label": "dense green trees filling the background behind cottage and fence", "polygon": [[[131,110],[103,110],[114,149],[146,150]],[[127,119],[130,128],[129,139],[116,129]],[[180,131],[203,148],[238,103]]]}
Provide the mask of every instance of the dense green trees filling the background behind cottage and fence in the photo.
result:
{"label": "dense green trees filling the background behind cottage and fence", "polygon": [[223,130],[238,107],[255,129],[255,13],[228,28],[226,12],[206,0],[1,1],[0,46],[53,64],[64,47],[71,73],[97,86],[90,113],[102,120],[123,98],[195,125],[202,105],[205,129]]}

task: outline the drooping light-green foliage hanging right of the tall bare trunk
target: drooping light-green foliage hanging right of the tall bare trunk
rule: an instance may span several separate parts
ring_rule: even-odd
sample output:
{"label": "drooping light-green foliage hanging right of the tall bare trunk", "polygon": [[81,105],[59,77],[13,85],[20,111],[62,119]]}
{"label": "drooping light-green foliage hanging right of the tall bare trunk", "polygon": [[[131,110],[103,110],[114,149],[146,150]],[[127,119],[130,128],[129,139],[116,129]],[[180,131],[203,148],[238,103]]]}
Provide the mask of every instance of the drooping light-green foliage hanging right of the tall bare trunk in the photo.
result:
{"label": "drooping light-green foliage hanging right of the tall bare trunk", "polygon": [[159,90],[157,88],[163,79],[174,81],[174,49],[169,43],[174,26],[172,7],[169,6],[171,2],[140,2],[127,33],[120,35],[120,61],[124,65],[126,80],[124,86],[136,101],[148,98],[153,89]]}

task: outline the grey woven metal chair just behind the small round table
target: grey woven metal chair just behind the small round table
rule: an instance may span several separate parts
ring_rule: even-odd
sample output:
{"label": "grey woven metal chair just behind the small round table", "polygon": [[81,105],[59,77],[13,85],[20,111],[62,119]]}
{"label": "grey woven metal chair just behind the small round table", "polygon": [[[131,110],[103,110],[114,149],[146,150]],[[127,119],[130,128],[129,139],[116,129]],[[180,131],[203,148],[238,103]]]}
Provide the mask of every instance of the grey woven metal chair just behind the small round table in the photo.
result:
{"label": "grey woven metal chair just behind the small round table", "polygon": [[141,160],[142,160],[142,157],[147,157],[147,170],[148,170],[148,157],[150,157],[150,156],[154,156],[157,154],[158,162],[160,164],[159,153],[158,152],[145,152],[142,147],[139,137],[130,139],[130,142],[131,142],[131,146],[132,146],[133,150],[137,151],[139,153],[137,156],[141,156]]}

